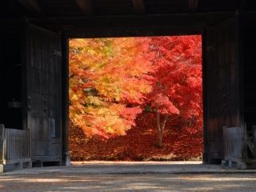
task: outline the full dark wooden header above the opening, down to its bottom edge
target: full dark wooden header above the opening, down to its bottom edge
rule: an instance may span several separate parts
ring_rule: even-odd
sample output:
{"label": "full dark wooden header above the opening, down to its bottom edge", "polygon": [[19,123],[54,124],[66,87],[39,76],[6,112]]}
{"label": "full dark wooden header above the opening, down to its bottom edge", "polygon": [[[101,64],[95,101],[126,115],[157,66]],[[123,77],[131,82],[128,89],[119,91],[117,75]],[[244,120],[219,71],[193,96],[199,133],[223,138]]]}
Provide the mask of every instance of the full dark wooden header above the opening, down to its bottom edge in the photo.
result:
{"label": "full dark wooden header above the opening, down to its bottom edge", "polygon": [[30,22],[49,29],[62,29],[69,38],[98,38],[200,34],[206,26],[214,26],[234,17],[235,12],[212,12],[30,18]]}

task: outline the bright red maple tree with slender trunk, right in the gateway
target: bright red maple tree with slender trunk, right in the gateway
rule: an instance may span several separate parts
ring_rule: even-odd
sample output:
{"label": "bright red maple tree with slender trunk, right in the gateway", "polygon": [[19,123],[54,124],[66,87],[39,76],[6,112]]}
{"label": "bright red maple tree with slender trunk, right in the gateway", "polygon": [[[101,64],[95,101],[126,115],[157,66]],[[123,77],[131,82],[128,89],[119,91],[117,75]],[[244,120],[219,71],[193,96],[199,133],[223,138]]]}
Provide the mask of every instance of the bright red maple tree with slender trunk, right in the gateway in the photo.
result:
{"label": "bright red maple tree with slender trunk, right in the gateway", "polygon": [[192,132],[202,126],[201,36],[151,38],[150,53],[156,70],[147,106],[156,114],[156,145],[162,147],[166,121],[179,120]]}

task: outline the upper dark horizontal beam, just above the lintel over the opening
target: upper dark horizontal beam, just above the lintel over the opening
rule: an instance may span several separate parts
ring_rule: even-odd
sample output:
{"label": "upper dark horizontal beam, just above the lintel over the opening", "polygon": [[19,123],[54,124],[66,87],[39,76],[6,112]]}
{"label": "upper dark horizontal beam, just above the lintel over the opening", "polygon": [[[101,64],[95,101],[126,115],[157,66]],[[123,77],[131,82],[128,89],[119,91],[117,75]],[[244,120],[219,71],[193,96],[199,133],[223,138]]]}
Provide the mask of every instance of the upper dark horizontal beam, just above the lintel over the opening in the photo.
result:
{"label": "upper dark horizontal beam, just above the lintel over the opening", "polygon": [[[112,15],[95,17],[45,17],[29,18],[39,26],[76,26],[76,27],[138,27],[138,26],[188,26],[214,25],[233,18],[235,12],[208,12],[195,14],[157,14],[157,15]],[[1,21],[1,19],[0,19]]]}

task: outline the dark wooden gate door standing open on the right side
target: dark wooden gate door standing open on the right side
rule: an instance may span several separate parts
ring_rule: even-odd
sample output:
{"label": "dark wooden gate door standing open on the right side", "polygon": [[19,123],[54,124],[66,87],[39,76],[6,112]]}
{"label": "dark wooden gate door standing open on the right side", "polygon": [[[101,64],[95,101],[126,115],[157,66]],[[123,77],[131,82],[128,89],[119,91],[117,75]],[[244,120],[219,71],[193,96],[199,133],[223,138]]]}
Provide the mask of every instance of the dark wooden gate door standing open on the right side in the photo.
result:
{"label": "dark wooden gate door standing open on the right side", "polygon": [[239,126],[237,19],[206,30],[204,62],[204,161],[222,160],[223,126]]}

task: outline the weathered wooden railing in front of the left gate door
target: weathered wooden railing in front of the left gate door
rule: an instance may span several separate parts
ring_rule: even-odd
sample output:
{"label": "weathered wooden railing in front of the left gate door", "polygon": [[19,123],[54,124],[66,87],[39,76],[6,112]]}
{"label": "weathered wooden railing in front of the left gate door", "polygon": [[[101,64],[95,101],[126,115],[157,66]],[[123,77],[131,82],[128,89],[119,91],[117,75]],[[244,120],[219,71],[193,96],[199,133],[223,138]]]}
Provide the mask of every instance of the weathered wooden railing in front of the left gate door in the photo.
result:
{"label": "weathered wooden railing in front of the left gate door", "polygon": [[26,162],[31,166],[29,131],[8,129],[0,125],[0,134],[0,163],[18,164],[22,168]]}

